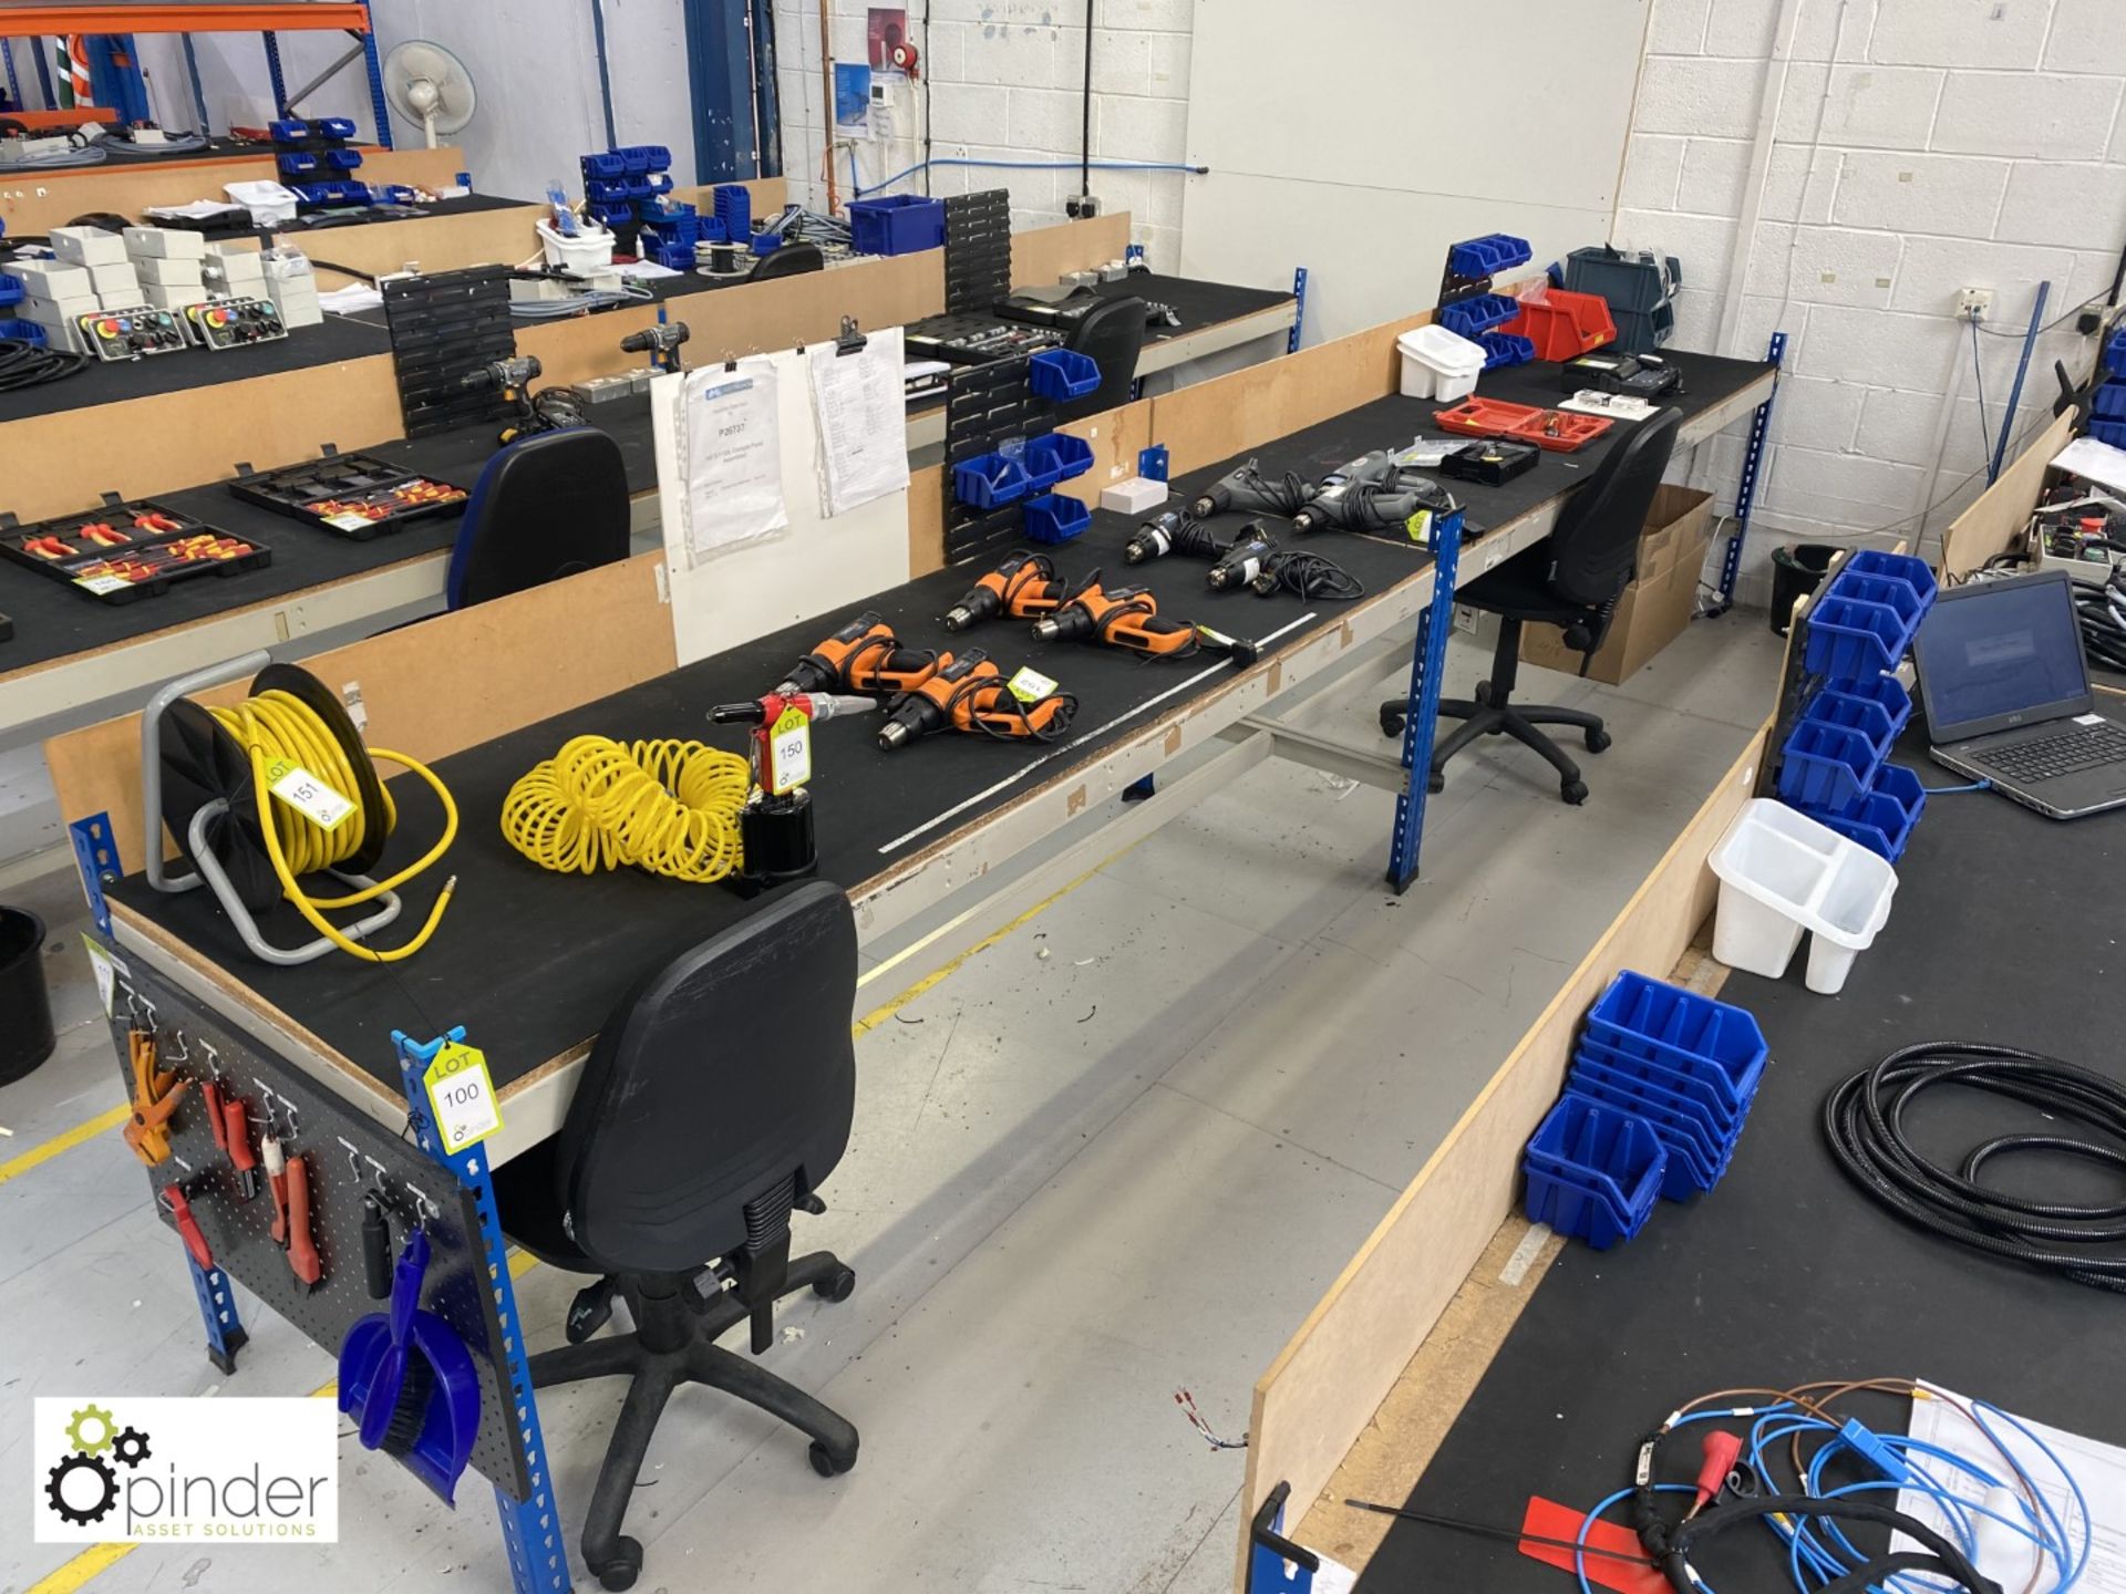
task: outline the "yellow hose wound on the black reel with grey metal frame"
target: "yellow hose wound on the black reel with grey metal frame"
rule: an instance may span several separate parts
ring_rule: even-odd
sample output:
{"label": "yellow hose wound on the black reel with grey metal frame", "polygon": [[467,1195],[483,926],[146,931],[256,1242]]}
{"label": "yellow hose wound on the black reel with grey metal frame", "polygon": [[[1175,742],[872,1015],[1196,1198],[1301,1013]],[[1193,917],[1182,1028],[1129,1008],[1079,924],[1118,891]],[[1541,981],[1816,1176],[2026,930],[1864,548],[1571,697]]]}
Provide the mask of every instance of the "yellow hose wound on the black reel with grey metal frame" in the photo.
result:
{"label": "yellow hose wound on the black reel with grey metal frame", "polygon": [[[451,799],[451,791],[442,784],[442,780],[436,778],[436,771],[417,759],[408,759],[404,752],[370,748],[368,754],[372,761],[381,759],[383,763],[395,763],[402,769],[410,769],[434,788],[436,799],[442,803],[442,835],[436,846],[421,854],[417,863],[406,865],[389,880],[378,880],[374,886],[364,886],[347,897],[310,897],[300,884],[296,884],[298,876],[313,874],[315,869],[338,867],[361,850],[364,837],[372,833],[370,827],[381,827],[383,835],[389,835],[398,825],[398,806],[391,801],[391,788],[378,784],[378,791],[383,793],[383,812],[368,812],[361,803],[361,782],[357,780],[355,767],[347,757],[347,748],[340,746],[340,740],[317,716],[317,710],[291,693],[266,691],[257,697],[247,697],[236,708],[213,708],[208,712],[215,716],[215,723],[236,737],[238,746],[251,754],[251,780],[259,793],[259,816],[266,818],[270,812],[270,823],[259,825],[266,835],[266,854],[272,859],[272,869],[281,878],[281,895],[285,895],[296,912],[308,920],[310,929],[342,952],[366,959],[368,963],[398,963],[400,959],[408,959],[427,946],[427,937],[434,935],[436,925],[442,922],[442,910],[451,905],[451,893],[457,888],[455,878],[442,886],[442,895],[436,897],[436,905],[427,910],[427,922],[421,927],[421,933],[406,942],[406,946],[389,952],[378,952],[374,946],[364,946],[361,942],[351,939],[325,918],[323,910],[359,908],[387,891],[398,891],[449,850],[451,842],[457,840],[457,803]],[[336,793],[347,797],[355,806],[355,812],[327,831],[308,814],[302,814],[283,801],[274,801],[268,791],[270,782],[266,780],[266,765],[274,759],[287,759],[289,763],[302,765]]]}

